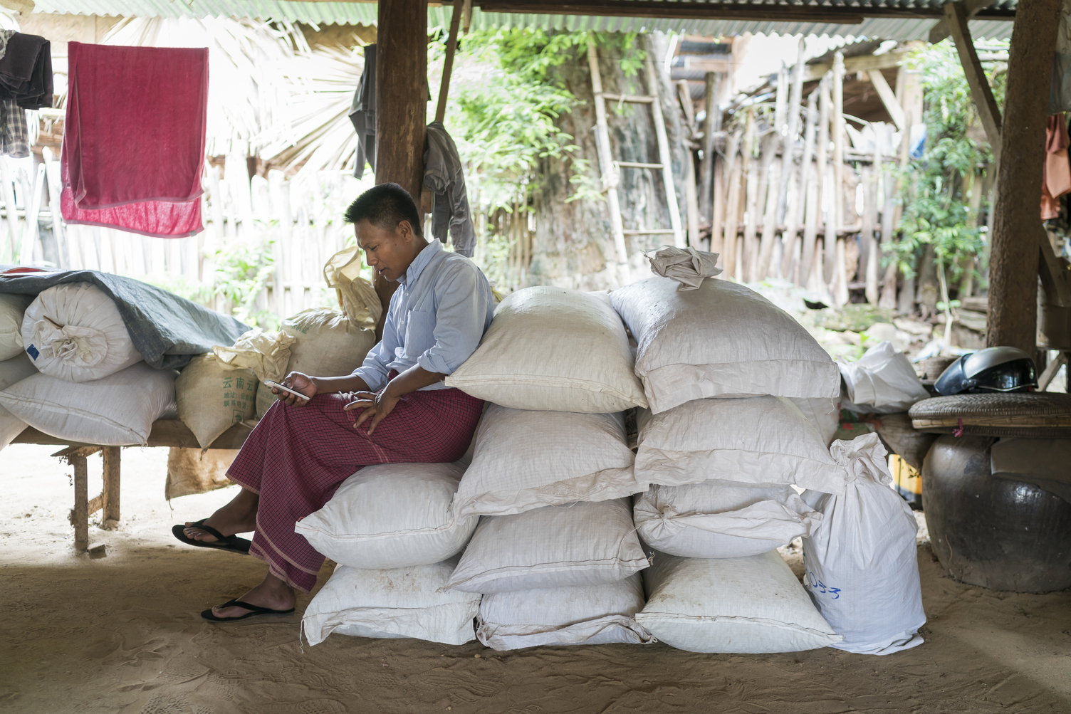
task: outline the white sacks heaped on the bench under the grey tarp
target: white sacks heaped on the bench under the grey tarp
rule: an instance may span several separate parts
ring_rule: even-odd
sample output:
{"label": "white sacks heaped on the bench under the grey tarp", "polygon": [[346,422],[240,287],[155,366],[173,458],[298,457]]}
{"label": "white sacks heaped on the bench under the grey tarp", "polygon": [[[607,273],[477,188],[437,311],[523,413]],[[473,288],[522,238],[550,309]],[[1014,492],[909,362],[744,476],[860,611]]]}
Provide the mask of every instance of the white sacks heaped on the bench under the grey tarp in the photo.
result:
{"label": "white sacks heaped on the bench under the grey tarp", "polygon": [[174,369],[154,369],[116,303],[90,283],[0,294],[0,447],[27,425],[76,442],[145,443],[175,414]]}

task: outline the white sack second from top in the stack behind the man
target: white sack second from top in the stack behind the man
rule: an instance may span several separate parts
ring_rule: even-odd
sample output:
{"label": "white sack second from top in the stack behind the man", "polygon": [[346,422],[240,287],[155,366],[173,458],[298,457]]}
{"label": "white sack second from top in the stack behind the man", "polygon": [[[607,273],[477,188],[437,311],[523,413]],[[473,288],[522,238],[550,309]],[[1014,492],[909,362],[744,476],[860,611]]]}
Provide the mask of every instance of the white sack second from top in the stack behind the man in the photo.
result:
{"label": "white sack second from top in the stack behind the man", "polygon": [[544,505],[606,501],[647,489],[636,481],[624,417],[489,405],[472,465],[457,489],[463,516],[503,516]]}

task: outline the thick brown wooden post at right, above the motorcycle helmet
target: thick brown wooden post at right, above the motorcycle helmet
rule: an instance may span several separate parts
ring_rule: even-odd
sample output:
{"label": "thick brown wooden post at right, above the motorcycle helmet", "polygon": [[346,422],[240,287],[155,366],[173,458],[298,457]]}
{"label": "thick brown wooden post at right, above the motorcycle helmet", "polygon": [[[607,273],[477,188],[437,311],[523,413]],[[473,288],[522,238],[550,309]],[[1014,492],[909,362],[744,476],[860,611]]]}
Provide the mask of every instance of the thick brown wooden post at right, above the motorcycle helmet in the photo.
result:
{"label": "thick brown wooden post at right, above the motorcycle helmet", "polygon": [[1061,6],[1060,0],[1031,0],[1015,11],[1000,132],[985,344],[1028,354],[1037,343],[1038,196]]}

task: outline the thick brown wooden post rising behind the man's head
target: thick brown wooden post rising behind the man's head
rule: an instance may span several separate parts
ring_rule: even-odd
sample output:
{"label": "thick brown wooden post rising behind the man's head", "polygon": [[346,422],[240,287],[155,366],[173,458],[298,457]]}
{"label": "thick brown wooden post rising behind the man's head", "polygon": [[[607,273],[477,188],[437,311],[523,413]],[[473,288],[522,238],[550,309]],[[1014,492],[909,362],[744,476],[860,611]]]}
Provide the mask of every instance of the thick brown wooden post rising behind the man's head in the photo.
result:
{"label": "thick brown wooden post rising behind the man's head", "polygon": [[[427,3],[383,0],[378,5],[376,48],[376,183],[394,182],[420,208],[424,185],[424,130],[427,123]],[[398,284],[375,274],[382,316]]]}

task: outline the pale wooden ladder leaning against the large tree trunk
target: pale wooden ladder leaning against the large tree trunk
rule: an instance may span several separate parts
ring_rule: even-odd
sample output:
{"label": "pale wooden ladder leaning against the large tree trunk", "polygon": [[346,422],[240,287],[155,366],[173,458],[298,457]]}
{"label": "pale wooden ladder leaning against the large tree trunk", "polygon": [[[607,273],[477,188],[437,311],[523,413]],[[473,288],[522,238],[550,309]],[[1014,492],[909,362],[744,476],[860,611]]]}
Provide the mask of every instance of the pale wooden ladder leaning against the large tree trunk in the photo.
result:
{"label": "pale wooden ladder leaning against the large tree trunk", "polygon": [[[609,206],[609,225],[614,233],[614,247],[617,248],[618,263],[629,262],[629,252],[624,244],[625,236],[673,236],[674,245],[684,247],[684,231],[680,224],[680,207],[677,204],[677,189],[674,187],[673,166],[669,158],[669,140],[666,138],[665,117],[659,104],[659,78],[654,74],[654,64],[650,52],[645,60],[647,69],[647,85],[650,95],[608,94],[602,89],[602,75],[599,74],[599,55],[594,45],[588,45],[588,65],[591,67],[591,90],[595,98],[595,137],[598,139],[599,168],[602,173],[603,191],[606,192],[606,202]],[[648,104],[654,116],[654,135],[659,142],[659,163],[643,164],[638,162],[614,161],[609,148],[609,130],[606,127],[606,100],[628,104]],[[621,204],[617,197],[617,185],[620,180],[620,169],[651,169],[662,171],[662,183],[666,189],[666,209],[669,212],[672,228],[627,230],[621,219]]]}

